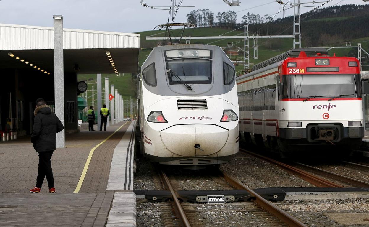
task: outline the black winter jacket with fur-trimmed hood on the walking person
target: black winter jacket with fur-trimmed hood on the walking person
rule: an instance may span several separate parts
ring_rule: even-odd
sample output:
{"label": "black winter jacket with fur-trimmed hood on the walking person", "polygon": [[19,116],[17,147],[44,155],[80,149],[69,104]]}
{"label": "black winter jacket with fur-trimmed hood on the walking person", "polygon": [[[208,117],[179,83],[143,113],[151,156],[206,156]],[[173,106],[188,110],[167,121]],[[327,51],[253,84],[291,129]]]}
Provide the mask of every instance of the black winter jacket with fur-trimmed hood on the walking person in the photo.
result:
{"label": "black winter jacket with fur-trimmed hood on the walking person", "polygon": [[47,105],[38,106],[34,115],[31,143],[36,152],[56,150],[56,133],[64,129],[63,124]]}

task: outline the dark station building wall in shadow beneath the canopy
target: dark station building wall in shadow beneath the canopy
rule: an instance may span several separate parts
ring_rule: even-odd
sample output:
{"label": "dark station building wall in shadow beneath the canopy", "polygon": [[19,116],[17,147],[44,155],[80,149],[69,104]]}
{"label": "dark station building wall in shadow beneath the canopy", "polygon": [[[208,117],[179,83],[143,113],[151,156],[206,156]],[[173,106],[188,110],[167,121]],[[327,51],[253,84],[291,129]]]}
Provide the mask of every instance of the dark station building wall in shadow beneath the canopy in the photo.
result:
{"label": "dark station building wall in shadow beneath the canopy", "polygon": [[[2,69],[0,78],[0,131],[4,132],[13,118],[13,128],[17,128],[18,136],[31,134],[36,100],[45,99],[54,111],[54,76],[34,70]],[[67,133],[78,129],[76,82],[75,72],[65,72],[64,127]]]}

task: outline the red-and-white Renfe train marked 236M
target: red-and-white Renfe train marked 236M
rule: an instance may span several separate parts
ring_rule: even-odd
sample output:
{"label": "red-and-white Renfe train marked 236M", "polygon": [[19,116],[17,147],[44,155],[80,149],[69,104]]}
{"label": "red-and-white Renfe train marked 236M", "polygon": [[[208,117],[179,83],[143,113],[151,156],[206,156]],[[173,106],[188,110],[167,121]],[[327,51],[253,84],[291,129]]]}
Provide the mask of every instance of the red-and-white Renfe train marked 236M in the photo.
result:
{"label": "red-and-white Renfe train marked 236M", "polygon": [[359,61],[327,54],[323,48],[292,49],[237,78],[239,129],[246,142],[281,152],[360,146],[367,92]]}

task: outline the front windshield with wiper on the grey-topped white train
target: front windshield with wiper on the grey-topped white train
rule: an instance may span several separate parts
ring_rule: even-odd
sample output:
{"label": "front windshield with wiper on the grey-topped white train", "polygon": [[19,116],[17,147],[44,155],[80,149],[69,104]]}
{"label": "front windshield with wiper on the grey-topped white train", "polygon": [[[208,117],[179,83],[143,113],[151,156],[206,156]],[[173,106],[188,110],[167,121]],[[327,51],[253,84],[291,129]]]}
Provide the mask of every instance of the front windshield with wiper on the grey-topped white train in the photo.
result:
{"label": "front windshield with wiper on the grey-topped white train", "polygon": [[211,60],[179,58],[166,61],[169,84],[211,84]]}

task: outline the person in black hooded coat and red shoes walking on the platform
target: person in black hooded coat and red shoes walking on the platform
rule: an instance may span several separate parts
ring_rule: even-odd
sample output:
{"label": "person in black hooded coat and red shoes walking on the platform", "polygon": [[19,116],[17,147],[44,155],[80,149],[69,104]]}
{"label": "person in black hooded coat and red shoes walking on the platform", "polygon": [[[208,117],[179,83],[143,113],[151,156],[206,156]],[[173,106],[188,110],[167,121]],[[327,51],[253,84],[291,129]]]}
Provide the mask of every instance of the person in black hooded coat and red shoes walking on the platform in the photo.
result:
{"label": "person in black hooded coat and red shoes walking on the platform", "polygon": [[56,133],[61,132],[64,126],[59,118],[51,112],[50,107],[45,105],[44,99],[37,99],[34,115],[31,142],[38,154],[39,161],[36,187],[30,189],[30,192],[40,192],[45,176],[48,181],[49,192],[55,192],[51,156],[56,150]]}

